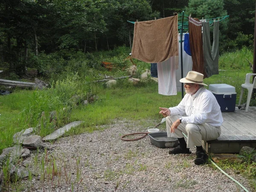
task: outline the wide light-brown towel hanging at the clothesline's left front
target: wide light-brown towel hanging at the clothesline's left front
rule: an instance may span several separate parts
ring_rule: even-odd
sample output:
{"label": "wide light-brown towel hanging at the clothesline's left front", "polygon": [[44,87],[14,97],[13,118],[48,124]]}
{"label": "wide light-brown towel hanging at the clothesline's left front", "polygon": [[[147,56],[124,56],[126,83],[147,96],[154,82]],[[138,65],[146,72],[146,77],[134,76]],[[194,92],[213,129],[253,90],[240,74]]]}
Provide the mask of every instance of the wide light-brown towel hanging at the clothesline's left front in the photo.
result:
{"label": "wide light-brown towel hanging at the clothesline's left front", "polygon": [[178,15],[135,22],[131,56],[147,63],[178,55]]}

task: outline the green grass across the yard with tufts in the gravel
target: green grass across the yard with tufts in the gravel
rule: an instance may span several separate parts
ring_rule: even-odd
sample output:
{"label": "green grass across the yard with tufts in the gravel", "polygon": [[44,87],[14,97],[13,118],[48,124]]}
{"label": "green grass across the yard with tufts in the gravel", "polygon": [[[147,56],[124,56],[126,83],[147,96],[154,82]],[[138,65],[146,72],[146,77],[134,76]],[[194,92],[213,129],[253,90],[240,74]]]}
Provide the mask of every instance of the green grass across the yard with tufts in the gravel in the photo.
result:
{"label": "green grass across the yard with tufts in the gravel", "polygon": [[[208,85],[221,83],[233,85],[236,87],[236,104],[238,104],[241,84],[244,83],[246,73],[251,73],[247,59],[252,61],[252,52],[245,48],[236,53],[223,54],[219,60],[219,74],[204,79],[204,83]],[[113,61],[117,62],[118,58],[113,58]],[[136,63],[138,67],[137,77],[146,68],[150,67],[150,64],[145,64],[141,61],[136,61]],[[125,72],[121,70],[108,72],[90,69],[87,71],[87,76],[82,79],[78,73],[65,73],[63,75],[65,78],[52,82],[48,90],[15,90],[14,93],[8,96],[0,96],[0,153],[3,148],[12,146],[13,135],[25,128],[34,127],[36,133],[44,137],[55,129],[76,120],[82,120],[84,123],[72,128],[64,136],[102,130],[103,128],[100,125],[109,125],[114,119],[151,119],[158,123],[162,119],[162,116],[158,113],[159,107],[176,106],[181,101],[181,93],[177,93],[176,96],[158,94],[157,83],[149,79],[137,85],[128,83],[127,79],[119,79],[116,86],[112,88],[106,88],[104,83],[92,83],[96,78],[102,78],[99,73],[111,76],[115,74],[119,76],[125,75]],[[99,99],[88,105],[76,105],[76,101],[70,100],[73,96],[78,96],[85,100],[88,93],[98,96]],[[247,93],[244,93],[242,102],[246,101],[246,96]],[[45,116],[41,117],[43,111],[45,111]],[[57,113],[56,122],[52,122],[50,119],[49,112],[51,111],[56,111]],[[145,126],[152,125],[145,121]],[[164,130],[165,126],[160,125],[159,127],[161,126]],[[108,128],[108,126],[105,126],[105,128]],[[53,182],[53,177],[65,177],[66,183],[72,190],[74,187],[79,187],[82,182],[81,172],[79,172],[79,158],[77,157],[73,162],[77,165],[75,170],[76,178],[71,178],[67,164],[56,165],[55,158],[48,154],[45,154],[44,157],[40,157],[37,154],[34,157],[34,166],[41,167],[38,172],[41,173],[42,186],[44,186],[45,180],[51,183]],[[116,157],[116,160],[119,158],[121,157]],[[128,151],[124,158],[126,160],[138,158],[137,151]],[[87,161],[85,166],[91,165]],[[137,169],[134,169],[133,164],[127,164],[123,172],[133,174],[135,171],[146,171],[147,169],[144,164],[135,166]],[[183,167],[189,166],[189,163],[184,161],[176,168],[177,172]],[[244,173],[249,173],[249,175],[255,172],[255,165],[252,163],[229,166],[233,169],[244,169]],[[172,164],[167,163],[165,168],[171,169]],[[119,174],[122,173],[107,170],[105,179],[113,180]],[[58,185],[58,181],[58,179],[55,180],[55,183],[51,185]],[[255,180],[252,179],[253,182],[254,186],[256,186]],[[9,185],[9,183],[6,184]],[[126,184],[124,184],[123,188],[125,188]],[[116,189],[119,185],[120,183],[116,183]],[[186,186],[191,185],[195,185],[195,182],[186,180],[185,182],[178,182],[176,187],[182,186],[186,188]]]}

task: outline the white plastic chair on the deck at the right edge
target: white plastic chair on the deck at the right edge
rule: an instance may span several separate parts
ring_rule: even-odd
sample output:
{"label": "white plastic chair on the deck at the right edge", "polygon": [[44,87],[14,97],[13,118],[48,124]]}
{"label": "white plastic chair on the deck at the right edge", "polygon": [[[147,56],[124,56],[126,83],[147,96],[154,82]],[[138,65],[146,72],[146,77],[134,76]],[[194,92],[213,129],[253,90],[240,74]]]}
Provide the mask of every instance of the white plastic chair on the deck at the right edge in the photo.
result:
{"label": "white plastic chair on the deck at the right edge", "polygon": [[241,104],[242,96],[244,93],[244,88],[248,89],[248,95],[247,95],[247,102],[246,102],[246,108],[245,111],[248,111],[249,105],[250,105],[250,99],[253,93],[253,89],[256,89],[256,77],[254,78],[253,83],[250,83],[250,76],[256,76],[256,73],[247,73],[245,78],[245,83],[241,84],[241,95],[239,98],[239,104]]}

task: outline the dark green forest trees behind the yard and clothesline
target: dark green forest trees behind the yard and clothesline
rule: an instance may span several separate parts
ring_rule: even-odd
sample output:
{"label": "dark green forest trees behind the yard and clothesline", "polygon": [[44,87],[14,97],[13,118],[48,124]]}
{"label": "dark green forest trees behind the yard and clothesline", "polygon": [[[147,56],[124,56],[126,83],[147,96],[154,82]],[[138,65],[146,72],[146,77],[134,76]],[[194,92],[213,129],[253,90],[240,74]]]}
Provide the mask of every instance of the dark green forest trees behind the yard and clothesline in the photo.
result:
{"label": "dark green forest trees behind the yard and clothesline", "polygon": [[31,68],[53,77],[78,57],[98,67],[95,52],[131,49],[134,25],[127,20],[182,11],[200,19],[229,15],[220,24],[220,54],[253,49],[254,0],[1,0],[0,67],[13,80]]}

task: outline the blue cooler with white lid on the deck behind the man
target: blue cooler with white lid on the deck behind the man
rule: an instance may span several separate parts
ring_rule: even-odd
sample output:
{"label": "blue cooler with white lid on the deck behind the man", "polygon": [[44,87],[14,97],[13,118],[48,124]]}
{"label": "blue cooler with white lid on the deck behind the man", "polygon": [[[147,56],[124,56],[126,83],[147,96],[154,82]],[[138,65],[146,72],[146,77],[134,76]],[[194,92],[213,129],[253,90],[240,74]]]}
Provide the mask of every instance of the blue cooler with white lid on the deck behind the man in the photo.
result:
{"label": "blue cooler with white lid on the deck behind the man", "polygon": [[233,112],[236,108],[236,87],[229,84],[209,84],[209,91],[216,97],[221,112]]}

